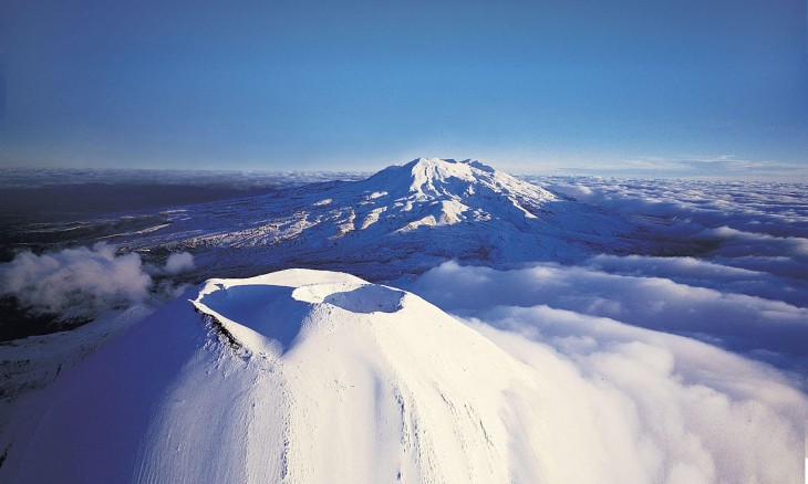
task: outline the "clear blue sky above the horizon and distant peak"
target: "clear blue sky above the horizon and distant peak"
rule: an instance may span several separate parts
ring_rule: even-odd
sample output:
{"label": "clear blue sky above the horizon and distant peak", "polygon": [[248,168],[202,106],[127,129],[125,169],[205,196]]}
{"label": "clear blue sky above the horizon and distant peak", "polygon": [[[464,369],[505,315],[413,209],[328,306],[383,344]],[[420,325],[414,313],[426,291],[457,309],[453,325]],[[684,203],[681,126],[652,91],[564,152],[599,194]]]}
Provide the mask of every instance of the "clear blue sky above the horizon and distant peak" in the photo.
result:
{"label": "clear blue sky above the horizon and distant peak", "polygon": [[0,166],[808,165],[805,1],[0,4]]}

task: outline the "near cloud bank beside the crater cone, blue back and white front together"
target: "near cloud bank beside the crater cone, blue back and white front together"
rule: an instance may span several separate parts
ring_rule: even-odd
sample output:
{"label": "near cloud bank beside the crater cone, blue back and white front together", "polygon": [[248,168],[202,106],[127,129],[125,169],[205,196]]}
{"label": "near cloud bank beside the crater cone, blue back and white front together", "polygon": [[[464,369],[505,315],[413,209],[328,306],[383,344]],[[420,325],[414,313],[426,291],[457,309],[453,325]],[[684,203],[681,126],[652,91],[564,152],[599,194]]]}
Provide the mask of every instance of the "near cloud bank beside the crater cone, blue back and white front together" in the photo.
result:
{"label": "near cloud bank beside the crater cone, blue back and white front together", "polygon": [[783,366],[799,362],[804,309],[659,276],[754,278],[736,271],[653,257],[510,271],[445,263],[408,288],[535,369],[553,440],[543,457],[574,463],[570,482],[801,482],[799,379],[670,334],[737,338],[739,353],[759,347]]}

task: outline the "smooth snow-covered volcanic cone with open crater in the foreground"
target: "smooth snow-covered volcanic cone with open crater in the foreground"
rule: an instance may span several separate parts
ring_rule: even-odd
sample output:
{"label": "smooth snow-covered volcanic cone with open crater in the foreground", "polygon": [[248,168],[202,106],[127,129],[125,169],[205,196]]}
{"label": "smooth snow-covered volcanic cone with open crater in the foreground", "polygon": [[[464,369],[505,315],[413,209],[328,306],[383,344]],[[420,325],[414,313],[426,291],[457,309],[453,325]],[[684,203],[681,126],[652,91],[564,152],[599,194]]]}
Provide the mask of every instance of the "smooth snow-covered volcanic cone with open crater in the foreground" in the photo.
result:
{"label": "smooth snow-covered volcanic cone with open crater in the foreground", "polygon": [[527,366],[334,272],[211,280],[32,402],[3,482],[540,482]]}

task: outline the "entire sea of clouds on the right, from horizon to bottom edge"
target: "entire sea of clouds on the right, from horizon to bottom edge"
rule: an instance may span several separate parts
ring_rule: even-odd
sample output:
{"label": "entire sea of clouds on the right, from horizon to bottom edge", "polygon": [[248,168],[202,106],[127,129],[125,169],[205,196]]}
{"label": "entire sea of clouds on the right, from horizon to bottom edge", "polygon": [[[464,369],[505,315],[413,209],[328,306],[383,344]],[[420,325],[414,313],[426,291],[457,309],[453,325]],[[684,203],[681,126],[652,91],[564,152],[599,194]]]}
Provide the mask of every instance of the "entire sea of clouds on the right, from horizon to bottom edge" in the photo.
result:
{"label": "entire sea of clouds on the right, from horizon to bottom edge", "polygon": [[654,256],[448,262],[407,288],[536,370],[580,482],[802,482],[806,187],[538,181],[636,221]]}

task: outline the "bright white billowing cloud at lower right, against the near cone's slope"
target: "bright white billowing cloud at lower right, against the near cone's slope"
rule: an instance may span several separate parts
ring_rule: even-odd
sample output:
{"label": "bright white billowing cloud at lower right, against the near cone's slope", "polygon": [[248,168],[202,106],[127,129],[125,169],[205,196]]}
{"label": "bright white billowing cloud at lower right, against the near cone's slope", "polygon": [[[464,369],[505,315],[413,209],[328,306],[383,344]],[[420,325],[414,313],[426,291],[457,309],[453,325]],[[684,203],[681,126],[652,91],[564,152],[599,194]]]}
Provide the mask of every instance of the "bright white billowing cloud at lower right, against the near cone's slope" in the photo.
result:
{"label": "bright white billowing cloud at lower right, against the near cone's slope", "polygon": [[808,401],[770,370],[547,306],[484,317],[469,324],[537,372],[555,452],[582,482],[800,482]]}

